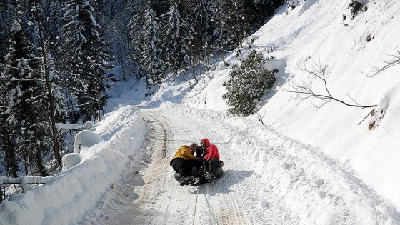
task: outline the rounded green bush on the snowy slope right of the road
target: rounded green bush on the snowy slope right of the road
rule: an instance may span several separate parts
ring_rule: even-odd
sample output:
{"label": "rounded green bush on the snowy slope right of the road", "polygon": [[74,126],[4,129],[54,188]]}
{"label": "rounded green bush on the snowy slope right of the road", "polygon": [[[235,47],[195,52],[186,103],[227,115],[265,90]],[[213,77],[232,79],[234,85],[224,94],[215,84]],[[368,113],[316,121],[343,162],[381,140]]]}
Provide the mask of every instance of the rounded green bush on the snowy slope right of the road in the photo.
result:
{"label": "rounded green bush on the snowy slope right of the road", "polygon": [[222,96],[231,106],[228,114],[234,116],[249,116],[254,114],[256,105],[264,95],[266,89],[271,89],[276,80],[276,71],[264,69],[266,61],[260,51],[251,51],[245,59],[241,59],[240,66],[234,64],[229,73],[231,78],[224,82],[227,93]]}

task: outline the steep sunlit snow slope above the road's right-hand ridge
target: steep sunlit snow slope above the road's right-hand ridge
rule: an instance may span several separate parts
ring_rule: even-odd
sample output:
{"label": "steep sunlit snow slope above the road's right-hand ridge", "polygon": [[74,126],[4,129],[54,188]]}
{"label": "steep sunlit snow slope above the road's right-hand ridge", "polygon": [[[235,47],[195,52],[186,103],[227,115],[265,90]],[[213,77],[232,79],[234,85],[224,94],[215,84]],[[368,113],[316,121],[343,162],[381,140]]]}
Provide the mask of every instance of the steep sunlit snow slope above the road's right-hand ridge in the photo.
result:
{"label": "steep sunlit snow slope above the road's right-hand ridge", "polygon": [[[349,2],[307,0],[292,11],[283,6],[256,31],[252,49],[274,56],[266,66],[279,69],[276,86],[259,112],[264,124],[276,131],[349,162],[366,184],[400,206],[400,65],[372,76],[375,67],[400,56],[400,1],[363,1],[363,11],[354,19]],[[248,52],[249,48],[242,49],[241,56]],[[236,60],[233,52],[228,61]],[[336,99],[378,105],[376,111],[383,114],[373,118],[369,113],[374,108],[337,101],[324,104],[312,98],[301,101],[299,94],[288,92],[294,84],[309,84],[316,94],[326,94],[324,83],[304,71],[318,67],[325,68],[327,87]],[[222,83],[229,79],[228,73],[229,68],[220,64],[183,103],[225,111]],[[377,126],[369,130],[375,119]]]}

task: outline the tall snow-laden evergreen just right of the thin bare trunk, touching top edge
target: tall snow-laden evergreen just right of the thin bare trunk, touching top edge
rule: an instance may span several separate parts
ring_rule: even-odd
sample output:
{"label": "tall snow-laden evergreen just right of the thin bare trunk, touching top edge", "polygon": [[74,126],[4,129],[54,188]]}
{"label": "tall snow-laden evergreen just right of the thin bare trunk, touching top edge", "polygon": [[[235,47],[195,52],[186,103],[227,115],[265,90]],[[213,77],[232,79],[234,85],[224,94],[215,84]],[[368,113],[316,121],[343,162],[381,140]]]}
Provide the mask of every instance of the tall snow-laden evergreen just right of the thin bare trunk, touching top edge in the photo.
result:
{"label": "tall snow-laden evergreen just right of the thin bare trunk, touching top edge", "polygon": [[109,52],[101,37],[103,33],[89,1],[69,0],[64,10],[66,24],[61,31],[66,83],[76,98],[81,119],[100,120],[107,98],[104,74],[110,69]]}

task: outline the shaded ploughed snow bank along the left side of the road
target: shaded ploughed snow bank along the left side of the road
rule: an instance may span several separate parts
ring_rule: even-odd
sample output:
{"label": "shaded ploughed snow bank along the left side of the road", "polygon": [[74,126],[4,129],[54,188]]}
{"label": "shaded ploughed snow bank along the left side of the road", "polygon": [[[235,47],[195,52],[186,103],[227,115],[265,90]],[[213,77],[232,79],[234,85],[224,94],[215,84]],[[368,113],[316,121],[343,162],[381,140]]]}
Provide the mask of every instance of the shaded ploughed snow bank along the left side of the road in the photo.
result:
{"label": "shaded ploughed snow bank along the left side of the road", "polygon": [[[106,141],[86,147],[81,164],[56,174],[42,186],[11,196],[0,205],[0,224],[76,224],[96,206],[104,191],[119,180],[128,156],[138,154],[145,124],[134,106],[124,106],[95,126]],[[107,133],[106,126],[119,129]]]}

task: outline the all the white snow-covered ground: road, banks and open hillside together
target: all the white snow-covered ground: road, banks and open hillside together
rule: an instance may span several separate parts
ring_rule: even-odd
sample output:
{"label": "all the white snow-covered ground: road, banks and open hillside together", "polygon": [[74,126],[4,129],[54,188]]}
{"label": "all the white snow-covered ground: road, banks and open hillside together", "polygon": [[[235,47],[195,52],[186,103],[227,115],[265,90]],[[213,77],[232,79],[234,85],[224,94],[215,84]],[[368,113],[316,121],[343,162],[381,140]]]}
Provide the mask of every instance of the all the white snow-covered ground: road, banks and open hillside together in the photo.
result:
{"label": "all the white snow-covered ground: road, banks and open hillside together", "polygon": [[[82,147],[81,163],[48,183],[11,196],[0,224],[400,224],[400,65],[369,77],[400,56],[400,1],[363,3],[354,19],[348,1],[283,6],[253,35],[253,49],[274,56],[266,67],[279,69],[259,111],[266,125],[226,116],[222,64],[192,89],[162,84],[151,99],[119,86],[94,124],[92,137],[104,141]],[[383,113],[287,92],[304,81],[324,93],[304,71],[313,66],[326,66],[333,96]],[[179,186],[169,160],[204,137],[219,147],[224,176]]]}

